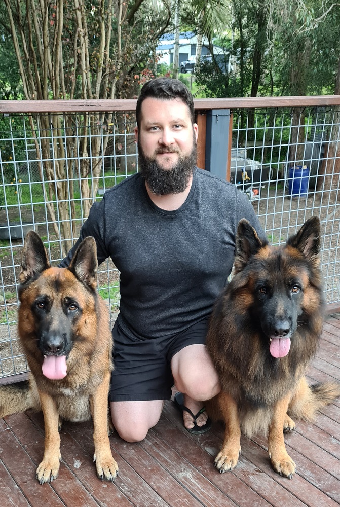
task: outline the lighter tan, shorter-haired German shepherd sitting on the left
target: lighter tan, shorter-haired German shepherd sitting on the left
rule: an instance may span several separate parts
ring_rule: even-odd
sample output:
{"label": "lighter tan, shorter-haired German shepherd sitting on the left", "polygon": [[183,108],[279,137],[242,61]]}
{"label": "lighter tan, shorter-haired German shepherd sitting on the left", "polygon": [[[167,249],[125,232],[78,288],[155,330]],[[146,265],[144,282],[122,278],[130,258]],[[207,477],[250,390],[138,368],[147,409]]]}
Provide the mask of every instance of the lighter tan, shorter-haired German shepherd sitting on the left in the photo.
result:
{"label": "lighter tan, shorter-haired German shepherd sitting on the left", "polygon": [[108,439],[112,335],[96,292],[96,243],[87,237],[68,268],[51,267],[40,237],[26,238],[19,275],[18,332],[31,376],[23,388],[0,388],[0,417],[42,410],[45,452],[36,469],[43,484],[58,476],[61,419],[94,422],[97,476],[113,481],[118,466]]}

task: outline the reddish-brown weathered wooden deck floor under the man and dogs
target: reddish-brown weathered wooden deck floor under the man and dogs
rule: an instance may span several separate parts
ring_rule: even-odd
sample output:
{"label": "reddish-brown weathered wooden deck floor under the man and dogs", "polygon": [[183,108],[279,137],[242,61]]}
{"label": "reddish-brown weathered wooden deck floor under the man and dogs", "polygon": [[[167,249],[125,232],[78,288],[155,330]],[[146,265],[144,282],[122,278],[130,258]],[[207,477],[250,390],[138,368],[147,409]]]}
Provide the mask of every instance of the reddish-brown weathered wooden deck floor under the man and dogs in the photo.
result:
{"label": "reddish-brown weathered wooden deck floor under the man and dogs", "polygon": [[[340,380],[340,314],[327,317],[310,379]],[[242,437],[242,456],[233,472],[219,474],[213,458],[223,429],[213,425],[191,436],[179,412],[167,402],[161,420],[143,442],[128,444],[110,437],[120,468],[114,484],[101,482],[92,463],[90,423],[65,423],[61,432],[63,461],[59,477],[39,485],[35,469],[44,446],[41,414],[24,413],[0,419],[0,505],[33,507],[251,506],[330,507],[340,503],[340,400],[318,416],[315,424],[298,421],[285,437],[297,464],[292,480],[270,467],[267,441]]]}

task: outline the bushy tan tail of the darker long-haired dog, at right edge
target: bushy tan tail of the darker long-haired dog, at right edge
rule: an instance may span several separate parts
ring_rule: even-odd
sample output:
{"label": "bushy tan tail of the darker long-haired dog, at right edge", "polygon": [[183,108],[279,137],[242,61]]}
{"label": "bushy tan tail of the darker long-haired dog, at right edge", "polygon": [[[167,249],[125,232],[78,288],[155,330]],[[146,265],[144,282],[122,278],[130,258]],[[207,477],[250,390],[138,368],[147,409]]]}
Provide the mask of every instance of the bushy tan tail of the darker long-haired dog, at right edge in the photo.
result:
{"label": "bushy tan tail of the darker long-haired dog, at right edge", "polygon": [[332,403],[338,396],[340,396],[340,382],[334,380],[309,386],[306,378],[303,378],[289,404],[289,415],[293,418],[313,421],[318,410]]}

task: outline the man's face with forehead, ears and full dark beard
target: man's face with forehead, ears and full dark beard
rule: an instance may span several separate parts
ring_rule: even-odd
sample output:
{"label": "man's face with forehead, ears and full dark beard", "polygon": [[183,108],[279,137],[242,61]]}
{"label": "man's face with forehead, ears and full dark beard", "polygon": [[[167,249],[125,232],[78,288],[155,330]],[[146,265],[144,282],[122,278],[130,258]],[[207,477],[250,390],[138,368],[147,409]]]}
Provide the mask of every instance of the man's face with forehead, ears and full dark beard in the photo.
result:
{"label": "man's face with forehead, ears and full dark beard", "polygon": [[198,126],[180,99],[146,98],[136,127],[142,176],[155,194],[182,192],[196,164]]}

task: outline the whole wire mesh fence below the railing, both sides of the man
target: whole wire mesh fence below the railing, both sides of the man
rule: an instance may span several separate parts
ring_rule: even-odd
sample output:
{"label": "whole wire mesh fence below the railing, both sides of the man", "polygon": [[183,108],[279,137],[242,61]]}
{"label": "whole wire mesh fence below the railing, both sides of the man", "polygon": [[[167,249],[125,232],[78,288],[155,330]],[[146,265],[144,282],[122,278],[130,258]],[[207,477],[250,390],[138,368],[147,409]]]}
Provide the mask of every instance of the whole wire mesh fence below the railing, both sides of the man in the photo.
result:
{"label": "whole wire mesh fence below the railing, both sides of the man", "polygon": [[[26,232],[39,233],[57,265],[94,199],[136,172],[134,127],[130,112],[0,118],[0,378],[27,372],[16,330]],[[328,303],[340,302],[339,127],[335,107],[233,111],[231,182],[248,195],[272,244],[320,216]],[[113,322],[119,273],[110,259],[99,267],[98,288]]]}

